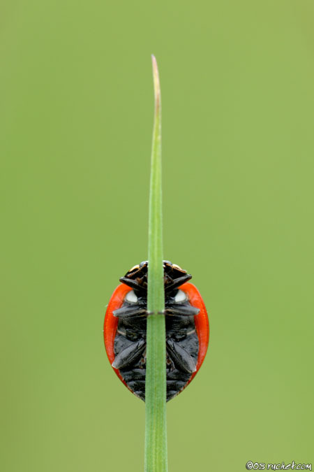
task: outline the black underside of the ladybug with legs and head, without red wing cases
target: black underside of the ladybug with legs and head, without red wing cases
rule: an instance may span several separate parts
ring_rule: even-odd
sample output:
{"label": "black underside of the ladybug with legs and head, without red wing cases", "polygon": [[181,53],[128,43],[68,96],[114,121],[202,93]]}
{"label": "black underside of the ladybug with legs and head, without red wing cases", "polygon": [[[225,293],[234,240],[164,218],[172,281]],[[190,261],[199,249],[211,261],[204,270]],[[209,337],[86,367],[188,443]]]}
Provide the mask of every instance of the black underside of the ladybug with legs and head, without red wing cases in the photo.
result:
{"label": "black underside of the ladybug with legs and head, without red wing cases", "polygon": [[[167,401],[179,394],[196,371],[199,341],[194,316],[198,308],[190,305],[180,287],[191,276],[179,266],[164,261]],[[147,334],[147,262],[130,269],[122,283],[132,287],[121,308],[114,338],[114,362],[126,385],[145,400]]]}

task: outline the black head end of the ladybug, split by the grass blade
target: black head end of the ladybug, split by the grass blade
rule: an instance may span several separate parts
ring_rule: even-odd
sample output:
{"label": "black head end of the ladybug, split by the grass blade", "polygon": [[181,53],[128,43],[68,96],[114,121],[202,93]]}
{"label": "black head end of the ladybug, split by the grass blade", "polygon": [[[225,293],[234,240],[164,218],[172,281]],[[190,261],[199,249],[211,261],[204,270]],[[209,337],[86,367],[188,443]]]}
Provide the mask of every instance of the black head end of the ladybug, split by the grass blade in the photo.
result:
{"label": "black head end of the ladybug, split by the grass blade", "polygon": [[[147,292],[148,265],[148,261],[143,261],[133,266],[124,277],[120,278],[120,282],[125,283],[138,292]],[[181,269],[177,264],[172,264],[170,261],[163,261],[163,273],[165,292],[171,292],[192,278],[184,269]]]}

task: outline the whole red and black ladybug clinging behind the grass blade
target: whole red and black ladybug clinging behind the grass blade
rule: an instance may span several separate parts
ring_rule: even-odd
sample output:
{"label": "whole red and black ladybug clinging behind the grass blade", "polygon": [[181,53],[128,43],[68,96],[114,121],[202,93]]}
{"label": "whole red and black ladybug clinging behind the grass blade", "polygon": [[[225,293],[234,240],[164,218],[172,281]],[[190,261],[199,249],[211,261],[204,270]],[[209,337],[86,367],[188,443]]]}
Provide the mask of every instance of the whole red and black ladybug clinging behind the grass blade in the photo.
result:
{"label": "whole red and black ladybug clinging behind the grass blade", "polygon": [[[132,267],[107,306],[104,338],[107,356],[120,380],[145,400],[148,262]],[[163,261],[167,401],[182,392],[204,361],[209,321],[200,292],[184,269]]]}

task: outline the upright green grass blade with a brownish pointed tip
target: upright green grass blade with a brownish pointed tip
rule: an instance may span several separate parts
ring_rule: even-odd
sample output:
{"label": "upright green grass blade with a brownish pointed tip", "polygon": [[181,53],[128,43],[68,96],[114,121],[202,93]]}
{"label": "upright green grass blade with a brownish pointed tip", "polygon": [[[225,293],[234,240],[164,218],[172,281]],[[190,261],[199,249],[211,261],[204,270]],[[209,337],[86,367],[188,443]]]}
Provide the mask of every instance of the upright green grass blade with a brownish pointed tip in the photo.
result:
{"label": "upright green grass blade with a brownish pointed tip", "polygon": [[163,283],[163,214],[161,187],[161,99],[158,66],[152,56],[155,114],[149,192],[149,271],[147,368],[145,389],[145,472],[167,472],[165,292]]}

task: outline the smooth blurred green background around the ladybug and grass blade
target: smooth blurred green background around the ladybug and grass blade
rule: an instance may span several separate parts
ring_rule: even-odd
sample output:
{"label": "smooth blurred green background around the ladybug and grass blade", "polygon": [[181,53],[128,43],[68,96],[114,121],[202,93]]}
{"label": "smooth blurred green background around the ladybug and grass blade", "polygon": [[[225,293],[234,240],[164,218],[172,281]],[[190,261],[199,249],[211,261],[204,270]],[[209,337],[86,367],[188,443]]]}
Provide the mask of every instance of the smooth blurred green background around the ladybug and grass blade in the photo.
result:
{"label": "smooth blurred green background around the ladybug and grass blade", "polygon": [[167,405],[169,469],[314,462],[313,1],[1,10],[1,471],[143,469],[144,403],[102,330],[147,258],[151,53],[165,258],[211,323]]}

